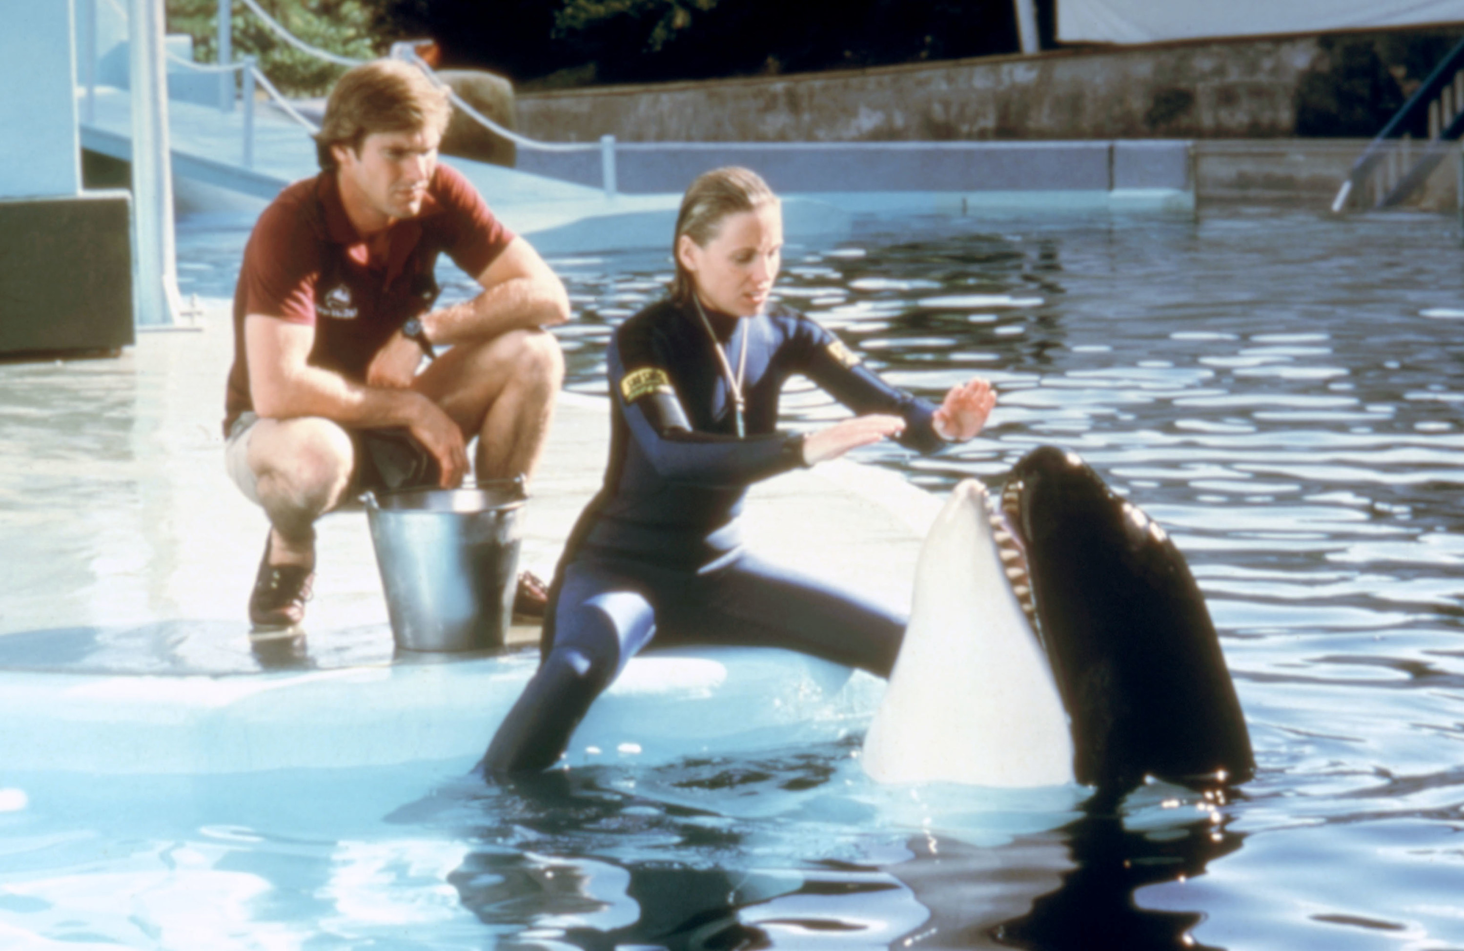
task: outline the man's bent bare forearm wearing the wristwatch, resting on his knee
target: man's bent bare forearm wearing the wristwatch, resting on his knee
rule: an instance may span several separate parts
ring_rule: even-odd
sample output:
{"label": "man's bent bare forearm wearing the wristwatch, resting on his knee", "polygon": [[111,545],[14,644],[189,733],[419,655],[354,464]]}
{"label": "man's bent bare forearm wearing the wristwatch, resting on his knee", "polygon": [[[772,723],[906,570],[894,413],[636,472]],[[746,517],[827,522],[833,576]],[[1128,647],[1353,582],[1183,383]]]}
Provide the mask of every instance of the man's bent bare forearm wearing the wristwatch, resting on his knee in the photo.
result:
{"label": "man's bent bare forearm wearing the wristwatch, resting on his knee", "polygon": [[480,340],[569,319],[569,295],[564,283],[523,237],[509,242],[477,275],[477,283],[483,293],[422,318],[432,343]]}

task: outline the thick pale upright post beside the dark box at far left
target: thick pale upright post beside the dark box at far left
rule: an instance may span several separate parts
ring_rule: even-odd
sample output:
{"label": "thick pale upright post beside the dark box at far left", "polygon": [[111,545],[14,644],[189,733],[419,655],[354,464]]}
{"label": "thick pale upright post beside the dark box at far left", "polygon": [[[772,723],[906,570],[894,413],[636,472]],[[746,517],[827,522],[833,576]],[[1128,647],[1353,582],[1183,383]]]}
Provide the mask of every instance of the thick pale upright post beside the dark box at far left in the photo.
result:
{"label": "thick pale upright post beside the dark box at far left", "polygon": [[177,303],[173,232],[173,160],[168,141],[168,78],[163,45],[163,0],[129,0],[132,82],[132,199],[138,256],[136,321],[167,327]]}

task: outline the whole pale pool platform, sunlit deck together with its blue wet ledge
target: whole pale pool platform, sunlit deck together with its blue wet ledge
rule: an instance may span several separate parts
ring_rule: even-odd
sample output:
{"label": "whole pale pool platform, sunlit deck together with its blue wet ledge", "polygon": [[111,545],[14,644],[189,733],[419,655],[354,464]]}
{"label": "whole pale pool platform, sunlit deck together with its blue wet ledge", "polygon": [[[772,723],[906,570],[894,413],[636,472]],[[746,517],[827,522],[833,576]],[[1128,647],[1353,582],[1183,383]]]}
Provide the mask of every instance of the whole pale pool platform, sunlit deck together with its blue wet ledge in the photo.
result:
{"label": "whole pale pool platform, sunlit deck together with its blue wet ledge", "polygon": [[[0,761],[94,775],[470,762],[531,673],[539,632],[515,627],[495,652],[398,651],[363,508],[319,523],[305,636],[250,642],[266,522],[224,472],[233,341],[227,302],[203,305],[198,330],[143,333],[117,359],[0,363]],[[605,400],[564,394],[530,486],[523,566],[552,571],[602,479],[608,435]],[[908,604],[934,497],[849,462],[752,495],[752,548]],[[867,690],[862,706],[837,699],[845,668],[780,651],[641,658],[622,681],[619,706],[603,705],[612,725],[586,721],[586,749],[663,719],[668,696],[723,697],[691,714],[695,743],[868,714]]]}

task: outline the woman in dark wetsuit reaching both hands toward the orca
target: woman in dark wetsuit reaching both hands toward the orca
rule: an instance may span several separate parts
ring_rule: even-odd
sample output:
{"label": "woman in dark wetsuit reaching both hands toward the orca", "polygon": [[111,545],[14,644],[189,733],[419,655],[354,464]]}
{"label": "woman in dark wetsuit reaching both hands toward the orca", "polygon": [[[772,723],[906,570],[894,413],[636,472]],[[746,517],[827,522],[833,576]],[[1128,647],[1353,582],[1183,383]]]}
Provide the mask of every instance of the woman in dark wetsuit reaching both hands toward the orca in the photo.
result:
{"label": "woman in dark wetsuit reaching both hands toward the orca", "polygon": [[[687,190],[669,297],[610,341],[605,485],[555,571],[543,661],[488,749],[488,775],[553,765],[594,697],[651,639],[789,648],[881,677],[895,665],[905,618],[742,548],[747,486],[884,438],[922,453],[969,440],[996,397],[972,380],[937,409],[883,382],[818,324],[769,303],[782,243],[782,208],[755,173],[717,169]],[[793,374],[861,415],[777,432],[777,397]]]}

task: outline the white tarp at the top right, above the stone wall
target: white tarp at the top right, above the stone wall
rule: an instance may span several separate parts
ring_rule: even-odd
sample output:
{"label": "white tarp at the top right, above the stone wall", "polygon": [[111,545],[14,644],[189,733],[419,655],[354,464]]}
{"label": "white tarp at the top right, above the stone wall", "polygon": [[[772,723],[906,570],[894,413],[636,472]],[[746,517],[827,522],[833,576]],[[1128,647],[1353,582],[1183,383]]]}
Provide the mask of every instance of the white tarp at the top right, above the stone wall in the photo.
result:
{"label": "white tarp at the top right, above the stone wall", "polygon": [[1060,42],[1162,42],[1464,22],[1464,0],[1057,0]]}

